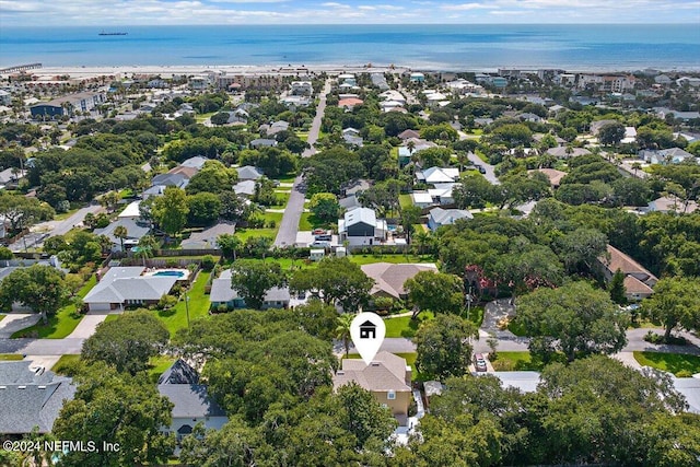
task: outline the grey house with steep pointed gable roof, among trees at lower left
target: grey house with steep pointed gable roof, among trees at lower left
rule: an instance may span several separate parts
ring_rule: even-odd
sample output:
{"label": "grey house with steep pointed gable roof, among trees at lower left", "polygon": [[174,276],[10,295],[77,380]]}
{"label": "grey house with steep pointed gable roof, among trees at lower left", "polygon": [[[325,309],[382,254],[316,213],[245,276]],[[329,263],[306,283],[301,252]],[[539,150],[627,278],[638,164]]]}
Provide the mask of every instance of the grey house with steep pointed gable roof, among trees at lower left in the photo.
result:
{"label": "grey house with steep pointed gable roof, among trees at lower left", "polygon": [[200,384],[199,373],[184,360],[177,359],[158,380],[158,392],[173,402],[170,427],[165,434],[174,433],[177,441],[190,434],[197,423],[207,430],[220,430],[229,418],[223,409]]}

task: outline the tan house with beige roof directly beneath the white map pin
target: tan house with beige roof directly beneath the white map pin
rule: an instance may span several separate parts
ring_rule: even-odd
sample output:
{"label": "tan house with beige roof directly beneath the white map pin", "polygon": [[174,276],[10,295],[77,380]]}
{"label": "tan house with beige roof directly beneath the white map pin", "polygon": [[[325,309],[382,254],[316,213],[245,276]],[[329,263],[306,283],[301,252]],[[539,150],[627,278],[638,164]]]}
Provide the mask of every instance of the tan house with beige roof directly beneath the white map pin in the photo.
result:
{"label": "tan house with beige roof directly beneath the white map pin", "polygon": [[343,359],[341,369],[332,375],[332,386],[338,390],[351,383],[369,390],[377,402],[388,407],[401,427],[408,423],[411,367],[405,359],[385,351],[378,352],[369,365],[362,360]]}

